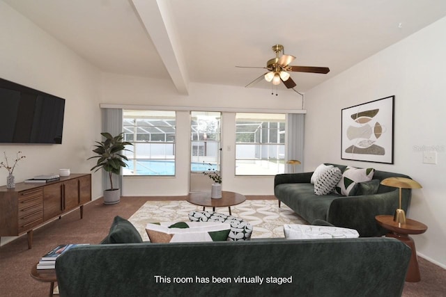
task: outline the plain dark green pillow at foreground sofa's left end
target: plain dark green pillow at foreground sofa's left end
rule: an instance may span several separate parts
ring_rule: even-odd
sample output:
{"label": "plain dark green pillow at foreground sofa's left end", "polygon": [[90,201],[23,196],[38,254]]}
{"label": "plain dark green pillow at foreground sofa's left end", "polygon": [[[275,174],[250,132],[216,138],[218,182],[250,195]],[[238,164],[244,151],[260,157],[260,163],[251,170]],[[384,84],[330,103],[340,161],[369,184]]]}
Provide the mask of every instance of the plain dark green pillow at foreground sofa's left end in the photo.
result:
{"label": "plain dark green pillow at foreground sofa's left end", "polygon": [[125,218],[115,216],[109,234],[101,243],[141,243],[142,238],[137,228]]}

